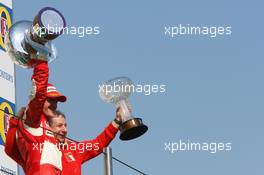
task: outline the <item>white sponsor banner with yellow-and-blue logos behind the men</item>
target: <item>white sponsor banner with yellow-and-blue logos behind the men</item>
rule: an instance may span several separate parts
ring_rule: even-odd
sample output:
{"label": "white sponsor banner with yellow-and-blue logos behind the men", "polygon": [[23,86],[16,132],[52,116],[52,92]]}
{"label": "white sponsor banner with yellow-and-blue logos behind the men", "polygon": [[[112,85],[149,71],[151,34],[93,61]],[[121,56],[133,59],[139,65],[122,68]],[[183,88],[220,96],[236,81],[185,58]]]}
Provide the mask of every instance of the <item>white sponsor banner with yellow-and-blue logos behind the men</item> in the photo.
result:
{"label": "white sponsor banner with yellow-and-blue logos behind the men", "polygon": [[15,113],[15,67],[5,52],[4,38],[12,25],[12,0],[0,0],[0,174],[17,175],[18,165],[4,152],[9,113]]}

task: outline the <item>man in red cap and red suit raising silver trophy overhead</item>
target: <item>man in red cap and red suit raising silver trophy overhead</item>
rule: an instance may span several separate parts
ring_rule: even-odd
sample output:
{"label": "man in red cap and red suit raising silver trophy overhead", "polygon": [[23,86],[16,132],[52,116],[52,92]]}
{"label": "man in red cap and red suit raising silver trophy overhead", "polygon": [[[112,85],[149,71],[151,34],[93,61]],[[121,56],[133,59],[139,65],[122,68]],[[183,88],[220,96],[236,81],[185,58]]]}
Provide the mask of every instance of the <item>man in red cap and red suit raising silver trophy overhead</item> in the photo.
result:
{"label": "man in red cap and red suit raising silver trophy overhead", "polygon": [[62,172],[61,151],[49,131],[48,120],[55,115],[58,102],[66,97],[48,84],[47,61],[36,60],[30,101],[22,119],[10,119],[6,137],[7,155],[19,163],[26,175],[57,175]]}

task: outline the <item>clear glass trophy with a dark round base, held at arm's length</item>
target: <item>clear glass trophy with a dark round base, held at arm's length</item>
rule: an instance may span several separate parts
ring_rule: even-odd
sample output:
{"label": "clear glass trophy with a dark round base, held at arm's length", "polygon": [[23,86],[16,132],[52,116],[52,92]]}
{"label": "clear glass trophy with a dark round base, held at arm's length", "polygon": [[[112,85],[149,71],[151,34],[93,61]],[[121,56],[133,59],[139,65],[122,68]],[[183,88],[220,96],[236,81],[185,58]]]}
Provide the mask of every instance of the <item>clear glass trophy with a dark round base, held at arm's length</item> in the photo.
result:
{"label": "clear glass trophy with a dark round base, held at arm's length", "polygon": [[131,140],[143,135],[148,127],[141,118],[134,118],[128,96],[132,92],[132,81],[127,77],[118,77],[104,83],[99,90],[103,101],[115,103],[121,109],[122,124],[119,126],[120,139]]}

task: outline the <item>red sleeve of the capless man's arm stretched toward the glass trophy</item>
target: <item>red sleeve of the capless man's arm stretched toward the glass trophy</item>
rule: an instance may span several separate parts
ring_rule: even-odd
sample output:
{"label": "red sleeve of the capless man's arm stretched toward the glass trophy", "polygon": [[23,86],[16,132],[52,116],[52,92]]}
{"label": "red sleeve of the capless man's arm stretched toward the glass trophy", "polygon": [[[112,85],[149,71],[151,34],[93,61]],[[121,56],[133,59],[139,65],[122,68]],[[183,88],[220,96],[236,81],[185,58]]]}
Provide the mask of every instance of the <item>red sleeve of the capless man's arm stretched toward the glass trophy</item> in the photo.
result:
{"label": "red sleeve of the capless man's arm stretched toward the glass trophy", "polygon": [[[107,147],[110,144],[110,142],[115,138],[117,132],[118,129],[115,128],[111,122],[104,129],[104,131],[100,135],[98,135],[95,139],[80,142],[81,144],[86,145],[86,149],[84,151],[79,150],[79,156],[82,160],[82,163],[102,153],[103,149]],[[92,147],[89,147],[90,145],[92,145]],[[90,150],[90,148],[92,149]]]}

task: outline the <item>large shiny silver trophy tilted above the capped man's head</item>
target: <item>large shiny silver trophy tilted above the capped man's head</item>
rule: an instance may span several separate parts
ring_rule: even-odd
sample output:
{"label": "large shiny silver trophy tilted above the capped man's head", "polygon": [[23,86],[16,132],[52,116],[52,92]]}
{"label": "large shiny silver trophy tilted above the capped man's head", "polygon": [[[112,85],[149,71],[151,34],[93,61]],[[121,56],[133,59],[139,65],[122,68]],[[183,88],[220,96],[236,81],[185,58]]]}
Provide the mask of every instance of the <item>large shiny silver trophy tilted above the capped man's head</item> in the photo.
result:
{"label": "large shiny silver trophy tilted above the capped man's head", "polygon": [[32,21],[18,21],[11,26],[6,38],[6,51],[13,62],[23,68],[34,67],[37,60],[51,62],[57,57],[52,40],[66,26],[63,15],[52,7],[41,9]]}

